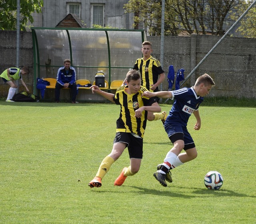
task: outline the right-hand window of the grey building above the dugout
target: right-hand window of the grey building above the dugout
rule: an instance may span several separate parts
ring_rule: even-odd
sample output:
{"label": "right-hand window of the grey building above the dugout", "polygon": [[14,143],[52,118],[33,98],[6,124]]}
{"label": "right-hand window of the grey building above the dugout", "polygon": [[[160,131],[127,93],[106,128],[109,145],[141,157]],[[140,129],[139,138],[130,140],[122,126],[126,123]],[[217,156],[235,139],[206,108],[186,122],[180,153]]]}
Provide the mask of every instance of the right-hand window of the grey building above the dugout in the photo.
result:
{"label": "right-hand window of the grey building above the dugout", "polygon": [[91,4],[91,26],[105,26],[104,21],[104,6],[105,4]]}

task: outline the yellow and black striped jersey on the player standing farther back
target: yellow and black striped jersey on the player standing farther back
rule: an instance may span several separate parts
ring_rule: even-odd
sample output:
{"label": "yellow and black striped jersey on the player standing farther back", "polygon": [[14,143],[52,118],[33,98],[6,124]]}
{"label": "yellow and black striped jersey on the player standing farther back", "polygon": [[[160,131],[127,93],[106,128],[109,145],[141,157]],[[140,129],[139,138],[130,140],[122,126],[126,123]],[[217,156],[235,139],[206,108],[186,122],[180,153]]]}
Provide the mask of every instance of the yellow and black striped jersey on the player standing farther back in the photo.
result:
{"label": "yellow and black striped jersey on the player standing farther back", "polygon": [[[162,69],[158,59],[155,59],[152,56],[146,61],[144,61],[143,57],[138,58],[134,64],[133,69],[140,70],[142,79],[141,85],[148,89],[150,92],[153,92],[153,90],[150,89],[150,85],[155,84],[158,80],[158,75],[164,73],[164,70]],[[154,90],[154,92],[157,91],[158,88]]]}

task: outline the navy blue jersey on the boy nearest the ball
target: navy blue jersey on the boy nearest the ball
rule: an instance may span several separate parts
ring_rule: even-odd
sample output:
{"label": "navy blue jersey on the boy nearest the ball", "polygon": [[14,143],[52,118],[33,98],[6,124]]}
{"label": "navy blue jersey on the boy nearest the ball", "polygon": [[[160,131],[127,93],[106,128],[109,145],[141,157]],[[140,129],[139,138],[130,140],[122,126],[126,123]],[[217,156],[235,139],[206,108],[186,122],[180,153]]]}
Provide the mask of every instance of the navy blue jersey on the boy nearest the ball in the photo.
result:
{"label": "navy blue jersey on the boy nearest the ball", "polygon": [[184,87],[182,89],[171,91],[171,93],[172,99],[175,100],[164,125],[166,127],[166,125],[179,123],[183,127],[186,127],[190,115],[192,115],[195,110],[198,110],[204,97],[196,95],[193,87]]}

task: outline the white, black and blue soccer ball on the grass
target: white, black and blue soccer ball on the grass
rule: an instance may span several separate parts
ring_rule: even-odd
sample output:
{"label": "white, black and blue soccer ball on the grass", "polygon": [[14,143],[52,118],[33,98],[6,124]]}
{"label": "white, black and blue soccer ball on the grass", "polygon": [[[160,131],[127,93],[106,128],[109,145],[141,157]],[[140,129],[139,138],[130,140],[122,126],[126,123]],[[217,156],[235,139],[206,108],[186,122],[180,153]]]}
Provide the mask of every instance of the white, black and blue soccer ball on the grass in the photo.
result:
{"label": "white, black and blue soccer ball on the grass", "polygon": [[204,185],[210,190],[219,190],[223,185],[223,177],[217,171],[210,171],[204,177]]}

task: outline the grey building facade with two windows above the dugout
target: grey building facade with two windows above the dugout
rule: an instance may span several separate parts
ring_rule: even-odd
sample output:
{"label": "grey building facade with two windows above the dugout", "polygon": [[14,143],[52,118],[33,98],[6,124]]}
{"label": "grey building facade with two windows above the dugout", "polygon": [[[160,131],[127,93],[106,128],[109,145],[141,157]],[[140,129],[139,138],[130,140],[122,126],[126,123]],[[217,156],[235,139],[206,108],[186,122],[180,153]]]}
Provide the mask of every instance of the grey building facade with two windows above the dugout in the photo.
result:
{"label": "grey building facade with two windows above the dugout", "polygon": [[42,13],[33,14],[35,27],[55,27],[72,13],[84,23],[118,29],[133,29],[133,14],[125,13],[128,0],[44,0]]}

